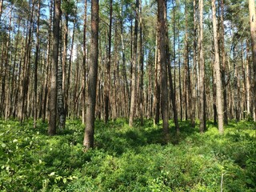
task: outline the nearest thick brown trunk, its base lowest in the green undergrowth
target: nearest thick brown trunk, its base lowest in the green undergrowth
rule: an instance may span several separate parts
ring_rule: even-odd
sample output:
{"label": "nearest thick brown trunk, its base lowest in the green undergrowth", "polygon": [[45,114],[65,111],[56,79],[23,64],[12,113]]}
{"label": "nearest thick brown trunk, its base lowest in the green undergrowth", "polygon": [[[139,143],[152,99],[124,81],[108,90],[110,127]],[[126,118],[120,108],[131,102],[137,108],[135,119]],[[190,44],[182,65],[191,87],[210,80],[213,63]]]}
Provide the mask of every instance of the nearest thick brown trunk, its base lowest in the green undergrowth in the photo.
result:
{"label": "nearest thick brown trunk, its base lowest in the green undergrowth", "polygon": [[88,73],[88,95],[86,97],[86,130],[83,146],[85,151],[94,147],[94,121],[96,86],[98,77],[98,0],[91,1],[91,46],[90,70]]}

